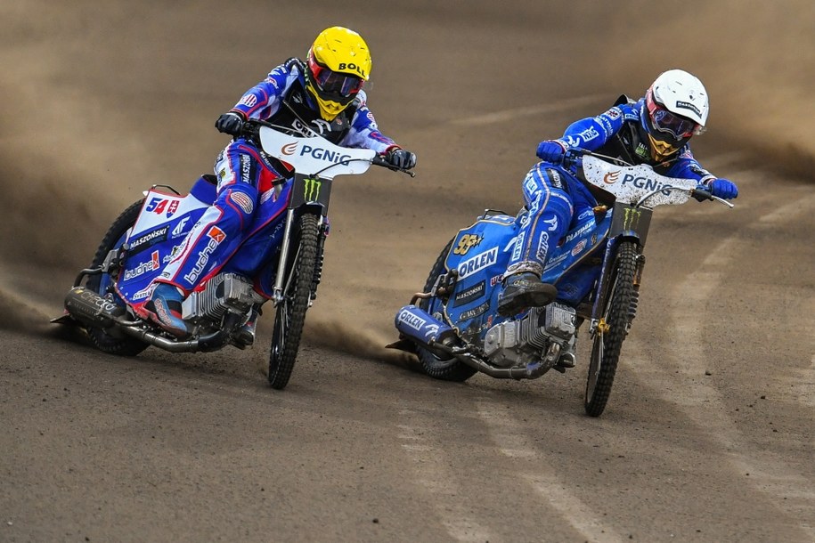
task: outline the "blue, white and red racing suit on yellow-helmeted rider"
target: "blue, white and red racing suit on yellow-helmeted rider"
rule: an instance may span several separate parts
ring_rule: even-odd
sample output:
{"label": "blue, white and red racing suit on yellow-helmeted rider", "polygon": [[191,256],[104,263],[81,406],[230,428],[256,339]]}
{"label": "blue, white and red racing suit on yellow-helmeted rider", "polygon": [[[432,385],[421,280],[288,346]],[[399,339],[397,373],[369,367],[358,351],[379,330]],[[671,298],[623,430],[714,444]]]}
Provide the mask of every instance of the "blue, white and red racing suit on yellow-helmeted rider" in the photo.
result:
{"label": "blue, white and red racing suit on yellow-helmeted rider", "polygon": [[[386,153],[395,142],[379,132],[366,105],[364,91],[337,118],[328,122],[306,92],[306,66],[289,59],[249,89],[231,110],[245,118],[322,135],[332,143]],[[156,282],[183,290],[188,296],[215,275],[252,231],[253,212],[264,195],[281,182],[290,182],[289,167],[267,156],[254,142],[235,138],[216,158],[217,197],[192,228]]]}

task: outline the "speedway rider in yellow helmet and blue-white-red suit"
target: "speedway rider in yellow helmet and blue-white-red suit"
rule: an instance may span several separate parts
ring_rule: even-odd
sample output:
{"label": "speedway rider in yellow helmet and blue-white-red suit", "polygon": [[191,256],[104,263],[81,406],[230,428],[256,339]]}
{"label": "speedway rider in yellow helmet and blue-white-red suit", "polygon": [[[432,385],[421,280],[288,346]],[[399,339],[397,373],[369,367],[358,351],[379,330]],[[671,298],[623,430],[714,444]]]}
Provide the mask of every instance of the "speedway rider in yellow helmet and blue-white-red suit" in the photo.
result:
{"label": "speedway rider in yellow helmet and blue-white-red suit", "polygon": [[[306,61],[292,58],[274,68],[216,120],[218,131],[234,136],[216,158],[216,201],[154,281],[144,316],[175,336],[186,336],[184,297],[215,275],[240,247],[249,235],[261,195],[289,178],[285,164],[241,136],[247,119],[291,126],[306,135],[320,134],[346,147],[376,150],[396,168],[416,165],[412,152],[379,132],[362,90],[370,76],[371,54],[363,37],[348,28],[327,28],[314,40]],[[256,316],[253,313],[240,330],[244,344],[254,341]]]}

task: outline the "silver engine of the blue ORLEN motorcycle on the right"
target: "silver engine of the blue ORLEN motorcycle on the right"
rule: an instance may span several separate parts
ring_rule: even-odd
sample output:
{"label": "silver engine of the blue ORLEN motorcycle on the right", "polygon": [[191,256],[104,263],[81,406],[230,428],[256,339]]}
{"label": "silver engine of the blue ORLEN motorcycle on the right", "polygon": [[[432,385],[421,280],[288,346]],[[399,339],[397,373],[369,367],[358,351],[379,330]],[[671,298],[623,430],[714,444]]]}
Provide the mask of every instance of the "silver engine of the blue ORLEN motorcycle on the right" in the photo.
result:
{"label": "silver engine of the blue ORLEN motorcycle on the right", "polygon": [[511,368],[538,360],[551,342],[567,350],[575,344],[576,321],[575,309],[565,304],[533,308],[523,319],[490,328],[484,338],[485,355],[496,366]]}

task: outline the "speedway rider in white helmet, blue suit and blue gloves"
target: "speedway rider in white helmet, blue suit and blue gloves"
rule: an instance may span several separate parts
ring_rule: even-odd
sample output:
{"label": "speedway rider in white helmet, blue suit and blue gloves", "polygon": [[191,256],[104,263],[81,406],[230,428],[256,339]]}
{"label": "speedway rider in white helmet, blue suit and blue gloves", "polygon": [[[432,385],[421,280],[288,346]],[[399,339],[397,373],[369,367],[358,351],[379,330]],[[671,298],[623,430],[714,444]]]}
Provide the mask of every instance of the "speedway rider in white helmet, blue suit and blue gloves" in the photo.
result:
{"label": "speedway rider in white helmet, blue suit and blue gloves", "polygon": [[526,214],[504,274],[498,312],[514,315],[558,296],[554,285],[541,281],[549,247],[558,243],[573,219],[597,205],[591,192],[563,166],[571,148],[621,158],[632,165],[647,164],[659,174],[696,179],[713,196],[736,198],[736,185],[705,170],[690,152],[689,140],[705,131],[708,111],[702,82],[686,71],[671,69],[656,77],[639,101],[623,95],[605,113],[576,121],[557,140],[541,142],[537,156],[542,162],[526,174],[522,185]]}

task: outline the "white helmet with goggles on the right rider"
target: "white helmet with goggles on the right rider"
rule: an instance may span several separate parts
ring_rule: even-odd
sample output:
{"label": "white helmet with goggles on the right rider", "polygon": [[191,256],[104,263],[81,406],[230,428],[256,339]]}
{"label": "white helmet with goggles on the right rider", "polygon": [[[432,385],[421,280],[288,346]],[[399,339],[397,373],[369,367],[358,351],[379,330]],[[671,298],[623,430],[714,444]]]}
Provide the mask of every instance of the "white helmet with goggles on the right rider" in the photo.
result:
{"label": "white helmet with goggles on the right rider", "polygon": [[640,112],[652,157],[667,158],[690,136],[702,134],[709,111],[705,85],[697,77],[681,69],[670,69],[656,77]]}

